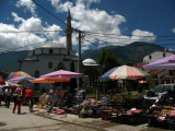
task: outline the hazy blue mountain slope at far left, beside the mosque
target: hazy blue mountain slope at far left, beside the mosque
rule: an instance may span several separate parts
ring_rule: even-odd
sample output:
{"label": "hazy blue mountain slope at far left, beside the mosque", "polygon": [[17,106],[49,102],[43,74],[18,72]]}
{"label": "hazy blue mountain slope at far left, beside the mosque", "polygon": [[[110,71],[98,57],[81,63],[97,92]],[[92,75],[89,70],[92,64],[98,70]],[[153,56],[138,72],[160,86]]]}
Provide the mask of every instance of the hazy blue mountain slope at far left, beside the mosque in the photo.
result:
{"label": "hazy blue mountain slope at far left, beside the mosque", "polygon": [[19,71],[19,60],[26,57],[26,50],[0,53],[0,71]]}

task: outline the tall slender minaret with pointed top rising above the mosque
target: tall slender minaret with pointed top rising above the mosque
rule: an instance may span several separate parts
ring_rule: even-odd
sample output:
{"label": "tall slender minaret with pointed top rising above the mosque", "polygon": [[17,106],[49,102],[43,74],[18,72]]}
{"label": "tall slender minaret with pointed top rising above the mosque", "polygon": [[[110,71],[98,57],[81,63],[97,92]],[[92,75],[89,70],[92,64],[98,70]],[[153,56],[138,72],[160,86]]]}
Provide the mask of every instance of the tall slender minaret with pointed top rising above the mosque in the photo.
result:
{"label": "tall slender minaret with pointed top rising above the mosque", "polygon": [[67,15],[67,27],[65,29],[65,33],[67,34],[67,49],[72,50],[72,27],[71,27],[71,16],[69,9]]}

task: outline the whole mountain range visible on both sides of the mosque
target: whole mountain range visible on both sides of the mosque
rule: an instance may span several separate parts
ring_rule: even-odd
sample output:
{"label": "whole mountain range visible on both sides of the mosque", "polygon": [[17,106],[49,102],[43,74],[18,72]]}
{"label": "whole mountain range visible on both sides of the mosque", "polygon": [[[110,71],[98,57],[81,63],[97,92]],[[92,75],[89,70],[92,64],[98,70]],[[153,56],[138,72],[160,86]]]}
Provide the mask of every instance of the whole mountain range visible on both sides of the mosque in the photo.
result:
{"label": "whole mountain range visible on both sides of the mosque", "polygon": [[[150,44],[136,41],[127,46],[108,46],[105,48],[110,48],[116,55],[117,60],[121,61],[133,61],[140,62],[142,58],[153,51],[164,50],[163,47]],[[85,50],[82,53],[82,59],[92,58],[97,60],[97,56],[102,48],[96,50]],[[19,71],[20,63],[19,60],[26,57],[26,50],[23,51],[9,51],[0,53],[0,71]]]}

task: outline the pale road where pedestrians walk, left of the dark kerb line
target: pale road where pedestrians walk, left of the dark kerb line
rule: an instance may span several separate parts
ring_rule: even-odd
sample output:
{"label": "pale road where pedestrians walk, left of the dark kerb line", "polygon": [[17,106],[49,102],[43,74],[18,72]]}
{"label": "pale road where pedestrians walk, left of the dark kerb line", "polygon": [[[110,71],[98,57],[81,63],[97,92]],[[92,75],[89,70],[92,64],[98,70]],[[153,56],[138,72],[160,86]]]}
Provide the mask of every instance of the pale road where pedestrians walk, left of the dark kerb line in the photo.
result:
{"label": "pale road where pedestrians walk, left of the dark kerb line", "polygon": [[12,114],[12,106],[0,107],[0,131],[93,131],[90,128],[36,116],[30,112],[26,106],[22,106],[22,115]]}

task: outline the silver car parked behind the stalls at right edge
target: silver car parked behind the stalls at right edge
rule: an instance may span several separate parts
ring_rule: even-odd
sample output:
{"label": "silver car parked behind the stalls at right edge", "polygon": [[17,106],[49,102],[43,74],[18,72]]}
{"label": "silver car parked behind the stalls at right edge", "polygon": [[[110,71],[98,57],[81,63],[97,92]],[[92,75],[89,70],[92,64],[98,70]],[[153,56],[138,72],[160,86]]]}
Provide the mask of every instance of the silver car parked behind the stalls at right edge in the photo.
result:
{"label": "silver car parked behind the stalls at right edge", "polygon": [[175,83],[158,85],[154,90],[148,92],[148,94],[144,95],[144,99],[152,100],[153,103],[155,103],[155,100],[161,98],[161,96],[167,93],[168,91],[175,91]]}

